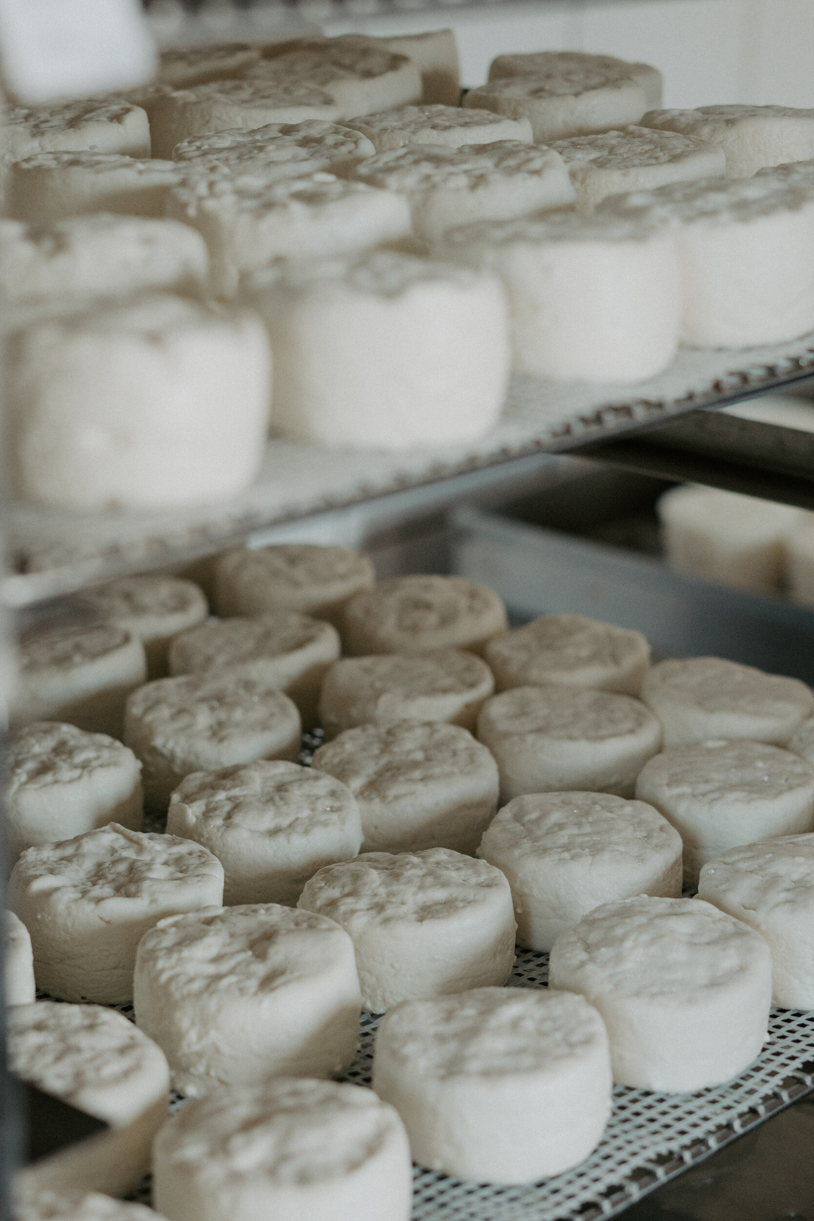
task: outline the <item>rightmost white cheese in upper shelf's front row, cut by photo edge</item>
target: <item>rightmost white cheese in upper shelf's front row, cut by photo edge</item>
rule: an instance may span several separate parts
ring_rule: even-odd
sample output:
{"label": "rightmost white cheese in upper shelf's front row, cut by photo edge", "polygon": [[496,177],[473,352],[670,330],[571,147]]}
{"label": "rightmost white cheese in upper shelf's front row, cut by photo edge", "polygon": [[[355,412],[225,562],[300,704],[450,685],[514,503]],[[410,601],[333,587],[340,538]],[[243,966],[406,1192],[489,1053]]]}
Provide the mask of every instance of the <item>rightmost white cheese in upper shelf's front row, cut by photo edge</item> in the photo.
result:
{"label": "rightmost white cheese in upper shelf's front row, cut by photo edge", "polygon": [[599,211],[666,226],[681,269],[681,342],[782,343],[814,327],[814,193],[768,176],[674,182]]}

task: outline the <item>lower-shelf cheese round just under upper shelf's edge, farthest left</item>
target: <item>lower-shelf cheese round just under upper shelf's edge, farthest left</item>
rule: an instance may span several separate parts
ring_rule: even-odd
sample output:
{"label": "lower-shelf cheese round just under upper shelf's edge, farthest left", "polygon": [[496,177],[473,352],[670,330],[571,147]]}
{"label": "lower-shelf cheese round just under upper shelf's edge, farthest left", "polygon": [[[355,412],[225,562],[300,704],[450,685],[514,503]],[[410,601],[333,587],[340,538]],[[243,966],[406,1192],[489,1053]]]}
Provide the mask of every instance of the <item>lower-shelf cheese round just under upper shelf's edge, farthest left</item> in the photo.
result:
{"label": "lower-shelf cheese round just under upper shelf's edge, farthest left", "polygon": [[122,576],[88,590],[79,603],[96,619],[115,623],[142,641],[151,679],[167,673],[172,639],[209,614],[201,590],[181,576]]}

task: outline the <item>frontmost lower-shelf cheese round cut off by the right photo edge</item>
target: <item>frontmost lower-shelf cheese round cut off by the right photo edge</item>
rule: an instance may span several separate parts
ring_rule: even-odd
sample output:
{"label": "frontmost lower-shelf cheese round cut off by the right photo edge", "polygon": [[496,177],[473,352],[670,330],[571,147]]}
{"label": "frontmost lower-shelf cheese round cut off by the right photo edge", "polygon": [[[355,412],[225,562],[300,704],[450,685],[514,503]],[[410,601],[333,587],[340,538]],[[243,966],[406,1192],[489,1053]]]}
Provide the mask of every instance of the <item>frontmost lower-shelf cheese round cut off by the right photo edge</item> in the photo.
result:
{"label": "frontmost lower-shelf cheese round cut off by the right photo edge", "polygon": [[702,868],[698,897],[769,943],[773,1005],[814,1009],[814,835],[730,849]]}

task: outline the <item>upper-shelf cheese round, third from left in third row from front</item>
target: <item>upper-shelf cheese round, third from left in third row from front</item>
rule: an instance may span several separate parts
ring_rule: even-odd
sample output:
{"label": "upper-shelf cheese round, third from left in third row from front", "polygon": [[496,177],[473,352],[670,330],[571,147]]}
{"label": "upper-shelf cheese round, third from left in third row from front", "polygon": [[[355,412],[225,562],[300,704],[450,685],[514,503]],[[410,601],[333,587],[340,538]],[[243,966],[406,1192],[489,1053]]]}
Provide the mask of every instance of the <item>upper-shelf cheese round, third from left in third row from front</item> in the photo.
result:
{"label": "upper-shelf cheese round, third from left in third row from front", "polygon": [[504,118],[492,110],[464,110],[459,105],[400,106],[353,118],[348,126],[362,132],[376,153],[389,153],[408,144],[456,149],[461,144],[494,144],[495,140],[531,143],[527,118]]}

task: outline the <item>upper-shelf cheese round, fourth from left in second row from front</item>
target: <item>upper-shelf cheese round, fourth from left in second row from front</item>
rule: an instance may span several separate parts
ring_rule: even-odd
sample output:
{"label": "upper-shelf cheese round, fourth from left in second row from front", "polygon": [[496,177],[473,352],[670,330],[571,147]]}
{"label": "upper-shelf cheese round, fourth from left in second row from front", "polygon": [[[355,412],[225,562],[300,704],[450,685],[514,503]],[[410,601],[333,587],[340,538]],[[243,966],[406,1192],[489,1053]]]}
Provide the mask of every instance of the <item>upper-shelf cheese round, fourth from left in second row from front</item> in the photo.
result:
{"label": "upper-shelf cheese round, fourth from left in second row from front", "polygon": [[605,195],[650,190],[668,182],[722,178],[722,149],[693,136],[626,127],[602,136],[574,136],[550,144],[565,161],[580,211],[592,211]]}

